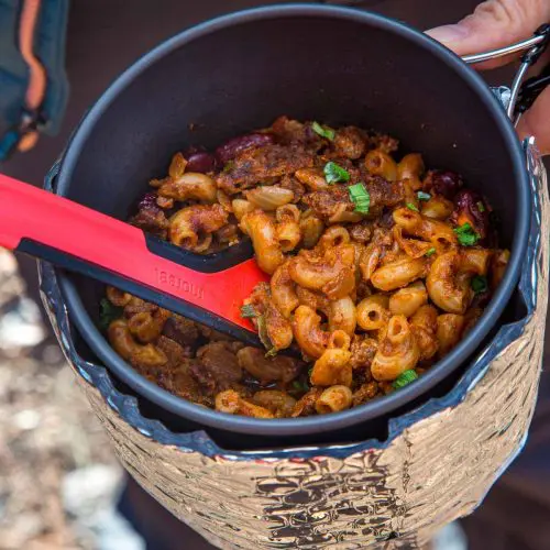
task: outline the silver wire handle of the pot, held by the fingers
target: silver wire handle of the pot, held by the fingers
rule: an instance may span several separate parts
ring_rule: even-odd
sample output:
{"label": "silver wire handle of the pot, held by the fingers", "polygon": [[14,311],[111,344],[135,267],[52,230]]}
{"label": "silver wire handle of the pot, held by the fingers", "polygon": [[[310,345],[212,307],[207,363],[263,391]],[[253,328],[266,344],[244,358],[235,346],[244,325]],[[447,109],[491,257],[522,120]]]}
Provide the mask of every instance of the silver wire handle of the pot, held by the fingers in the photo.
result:
{"label": "silver wire handle of the pot, held by the fingers", "polygon": [[514,77],[512,87],[508,88],[506,86],[498,86],[492,88],[514,125],[519,122],[521,114],[531,107],[540,92],[550,84],[550,65],[547,65],[539,76],[525,80],[527,70],[539,59],[549,43],[550,24],[547,23],[539,26],[530,38],[516,42],[515,44],[501,47],[498,50],[492,50],[481,54],[465,55],[462,57],[462,61],[469,65],[475,65],[477,63],[497,59],[517,52],[525,52],[521,56],[521,64],[519,65],[516,76]]}

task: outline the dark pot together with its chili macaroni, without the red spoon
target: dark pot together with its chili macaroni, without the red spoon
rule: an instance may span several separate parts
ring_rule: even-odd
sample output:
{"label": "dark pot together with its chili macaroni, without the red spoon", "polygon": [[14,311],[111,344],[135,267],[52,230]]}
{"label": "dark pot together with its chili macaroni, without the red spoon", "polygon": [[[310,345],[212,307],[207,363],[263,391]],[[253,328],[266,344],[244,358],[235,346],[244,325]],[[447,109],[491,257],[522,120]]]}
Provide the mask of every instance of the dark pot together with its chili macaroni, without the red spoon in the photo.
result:
{"label": "dark pot together with its chili macaroni, without the red spoon", "polygon": [[369,437],[438,395],[505,311],[529,228],[521,147],[480,77],[400,23],[319,6],[158,46],[81,122],[56,190],[197,254],[251,239],[262,350],[61,274],[113,376],[235,447]]}

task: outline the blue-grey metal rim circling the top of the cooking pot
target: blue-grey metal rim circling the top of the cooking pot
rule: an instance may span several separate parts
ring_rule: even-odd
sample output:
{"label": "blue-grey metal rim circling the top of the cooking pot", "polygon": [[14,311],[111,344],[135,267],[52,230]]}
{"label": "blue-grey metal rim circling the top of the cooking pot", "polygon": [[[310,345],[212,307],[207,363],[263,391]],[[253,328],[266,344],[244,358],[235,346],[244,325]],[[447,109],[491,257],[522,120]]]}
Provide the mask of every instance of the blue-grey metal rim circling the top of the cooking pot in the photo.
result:
{"label": "blue-grey metal rim circling the top of the cooking pot", "polygon": [[[522,261],[525,258],[531,215],[531,191],[528,182],[527,167],[525,164],[525,155],[520,142],[517,139],[515,130],[509,119],[506,117],[504,109],[497,102],[487,85],[472,68],[470,68],[450,50],[446,48],[420,31],[417,31],[402,22],[372,12],[360,11],[351,8],[300,3],[254,8],[222,15],[190,28],[145,54],[111,84],[111,86],[101,95],[99,100],[80,121],[78,128],[73,133],[62,158],[55,193],[62,196],[66,194],[70,184],[72,173],[74,172],[79,157],[79,152],[81,151],[88,135],[92,131],[96,121],[99,120],[119,94],[121,94],[130,82],[132,82],[151,65],[158,62],[174,50],[183,47],[199,37],[216,33],[219,30],[235,26],[242,23],[249,23],[251,21],[292,16],[337,18],[340,20],[362,23],[365,24],[365,26],[377,28],[409,40],[416,45],[422,47],[427,55],[429,54],[439,57],[443,63],[453,68],[483,101],[486,109],[493,116],[493,119],[495,120],[495,123],[507,144],[507,153],[510,155],[514,164],[514,176],[518,191],[518,217],[510,248],[510,261],[504,279],[493,296],[490,305],[485,308],[483,316],[469,334],[448,355],[438,361],[432,367],[430,367],[430,370],[422,374],[422,376],[420,376],[415,384],[410,384],[399,392],[394,392],[391,395],[367,402],[359,407],[341,413],[324,415],[322,417],[312,416],[306,418],[256,419],[243,416],[232,416],[195,405],[183,397],[177,397],[168,393],[156,384],[145,380],[142,375],[134,371],[128,362],[122,360],[114,352],[87,314],[73,282],[63,272],[56,270],[59,276],[59,286],[65,296],[73,322],[79,330],[80,334],[82,334],[94,353],[96,353],[98,358],[105,362],[108,370],[111,371],[117,377],[131,386],[132,389],[139,395],[142,395],[161,408],[169,410],[177,416],[193,420],[201,426],[240,433],[262,435],[264,437],[320,433],[338,430],[339,428],[344,428],[353,424],[372,420],[376,417],[387,415],[393,410],[409,404],[414,399],[421,397],[433,388],[433,386],[449,376],[461,365],[461,359],[468,358],[473,351],[479,349],[483,339],[486,338],[493,327],[492,320],[498,319],[508,304],[512,294],[517,286]],[[484,351],[482,354],[483,353]]]}

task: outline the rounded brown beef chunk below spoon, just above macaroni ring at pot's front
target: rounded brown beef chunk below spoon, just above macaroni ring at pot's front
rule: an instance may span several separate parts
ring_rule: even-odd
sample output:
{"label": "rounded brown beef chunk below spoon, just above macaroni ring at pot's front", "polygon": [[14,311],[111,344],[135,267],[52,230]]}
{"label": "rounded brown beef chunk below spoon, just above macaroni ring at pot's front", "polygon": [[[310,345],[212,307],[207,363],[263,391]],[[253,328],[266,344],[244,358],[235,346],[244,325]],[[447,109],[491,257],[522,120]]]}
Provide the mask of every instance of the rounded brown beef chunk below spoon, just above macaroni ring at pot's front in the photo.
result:
{"label": "rounded brown beef chunk below spoon, just above macaroni ring at pot's front", "polygon": [[200,348],[190,373],[209,395],[238,389],[243,377],[234,348],[229,342],[212,342]]}

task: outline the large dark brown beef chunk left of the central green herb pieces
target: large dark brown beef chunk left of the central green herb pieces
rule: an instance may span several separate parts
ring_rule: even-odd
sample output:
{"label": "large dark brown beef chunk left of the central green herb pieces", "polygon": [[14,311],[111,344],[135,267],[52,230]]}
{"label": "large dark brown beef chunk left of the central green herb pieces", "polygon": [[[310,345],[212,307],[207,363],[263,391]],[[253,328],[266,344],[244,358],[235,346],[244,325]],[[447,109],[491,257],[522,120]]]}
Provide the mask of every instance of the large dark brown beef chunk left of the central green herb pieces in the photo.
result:
{"label": "large dark brown beef chunk left of the central green herb pieces", "polygon": [[234,195],[257,184],[273,184],[312,165],[312,153],[301,145],[267,145],[242,152],[228,170],[218,175],[217,183],[221,190]]}

